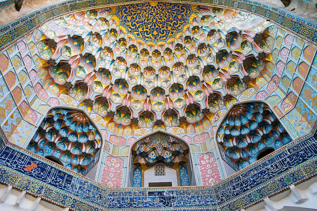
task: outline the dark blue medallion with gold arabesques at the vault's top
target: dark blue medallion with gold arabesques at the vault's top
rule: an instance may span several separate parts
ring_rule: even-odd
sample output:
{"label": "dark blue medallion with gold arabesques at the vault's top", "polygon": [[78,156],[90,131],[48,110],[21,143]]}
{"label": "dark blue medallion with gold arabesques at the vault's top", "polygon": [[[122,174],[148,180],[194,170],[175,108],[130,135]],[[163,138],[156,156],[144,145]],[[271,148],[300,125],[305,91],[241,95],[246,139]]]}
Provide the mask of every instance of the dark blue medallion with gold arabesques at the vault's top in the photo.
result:
{"label": "dark blue medallion with gold arabesques at the vault's top", "polygon": [[127,33],[144,42],[167,42],[182,32],[193,11],[189,4],[146,2],[117,6]]}

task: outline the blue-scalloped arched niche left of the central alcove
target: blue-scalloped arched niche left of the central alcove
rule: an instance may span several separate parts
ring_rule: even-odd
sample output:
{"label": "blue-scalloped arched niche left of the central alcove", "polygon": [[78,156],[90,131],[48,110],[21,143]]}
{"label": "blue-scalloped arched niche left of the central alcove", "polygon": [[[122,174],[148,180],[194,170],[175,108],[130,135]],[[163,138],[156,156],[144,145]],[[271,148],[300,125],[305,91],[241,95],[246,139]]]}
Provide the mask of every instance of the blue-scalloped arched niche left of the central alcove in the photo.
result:
{"label": "blue-scalloped arched niche left of the central alcove", "polygon": [[99,128],[85,111],[56,106],[46,113],[26,149],[87,175],[98,163],[102,143]]}

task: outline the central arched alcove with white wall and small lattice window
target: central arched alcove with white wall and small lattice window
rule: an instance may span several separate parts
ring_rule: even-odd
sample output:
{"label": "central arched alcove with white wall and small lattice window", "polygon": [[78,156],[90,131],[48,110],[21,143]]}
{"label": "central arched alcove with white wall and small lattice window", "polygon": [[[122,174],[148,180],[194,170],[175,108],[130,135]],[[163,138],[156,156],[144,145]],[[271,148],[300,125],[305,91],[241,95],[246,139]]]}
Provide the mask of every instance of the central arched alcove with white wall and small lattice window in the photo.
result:
{"label": "central arched alcove with white wall and small lattice window", "polygon": [[132,144],[129,167],[128,187],[196,184],[190,146],[165,131],[155,131]]}

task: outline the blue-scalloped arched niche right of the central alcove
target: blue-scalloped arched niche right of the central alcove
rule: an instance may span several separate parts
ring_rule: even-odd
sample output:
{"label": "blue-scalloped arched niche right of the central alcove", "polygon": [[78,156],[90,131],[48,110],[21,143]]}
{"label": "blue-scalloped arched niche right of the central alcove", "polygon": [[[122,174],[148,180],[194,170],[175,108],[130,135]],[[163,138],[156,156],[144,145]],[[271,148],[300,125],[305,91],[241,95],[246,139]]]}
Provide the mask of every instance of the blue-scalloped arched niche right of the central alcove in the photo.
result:
{"label": "blue-scalloped arched niche right of the central alcove", "polygon": [[227,175],[292,141],[271,107],[261,100],[231,105],[217,127],[215,139]]}

